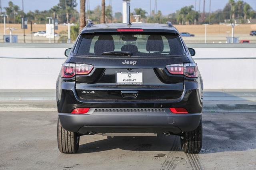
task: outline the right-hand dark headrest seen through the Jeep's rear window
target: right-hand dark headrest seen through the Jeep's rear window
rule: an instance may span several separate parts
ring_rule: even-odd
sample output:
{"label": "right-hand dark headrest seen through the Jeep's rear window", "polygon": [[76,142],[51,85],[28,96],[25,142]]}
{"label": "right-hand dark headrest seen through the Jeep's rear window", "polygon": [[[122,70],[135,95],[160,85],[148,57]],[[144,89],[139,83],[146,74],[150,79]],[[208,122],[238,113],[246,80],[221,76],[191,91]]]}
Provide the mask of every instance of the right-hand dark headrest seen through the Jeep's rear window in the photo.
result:
{"label": "right-hand dark headrest seen through the Jeep's rear window", "polygon": [[147,51],[159,51],[164,50],[164,42],[161,36],[159,35],[150,35],[146,44]]}

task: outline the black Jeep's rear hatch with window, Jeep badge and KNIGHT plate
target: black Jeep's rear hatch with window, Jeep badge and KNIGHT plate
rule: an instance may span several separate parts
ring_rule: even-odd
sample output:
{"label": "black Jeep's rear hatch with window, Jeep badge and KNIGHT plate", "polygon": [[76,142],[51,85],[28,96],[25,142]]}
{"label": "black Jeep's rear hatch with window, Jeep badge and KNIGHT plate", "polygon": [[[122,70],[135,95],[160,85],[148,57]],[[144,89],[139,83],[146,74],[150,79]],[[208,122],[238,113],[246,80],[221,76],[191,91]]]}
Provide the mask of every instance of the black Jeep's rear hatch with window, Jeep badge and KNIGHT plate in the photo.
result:
{"label": "black Jeep's rear hatch with window, Jeep badge and KNIGHT plate", "polygon": [[76,75],[80,99],[143,101],[182,95],[184,76],[166,69],[189,62],[178,34],[84,34],[73,52],[70,63],[94,66],[88,75]]}

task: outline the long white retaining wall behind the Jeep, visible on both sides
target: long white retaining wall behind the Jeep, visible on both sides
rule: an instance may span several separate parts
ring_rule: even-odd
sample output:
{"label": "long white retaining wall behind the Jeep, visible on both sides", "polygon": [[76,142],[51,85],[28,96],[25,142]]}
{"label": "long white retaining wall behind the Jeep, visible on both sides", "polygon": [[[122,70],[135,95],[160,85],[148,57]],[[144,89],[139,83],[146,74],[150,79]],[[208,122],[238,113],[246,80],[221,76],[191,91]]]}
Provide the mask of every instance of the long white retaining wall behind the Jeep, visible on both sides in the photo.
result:
{"label": "long white retaining wall behind the Jeep, visible on both sides", "polygon": [[[70,44],[0,45],[0,89],[55,89]],[[256,89],[256,44],[188,44],[205,89]]]}

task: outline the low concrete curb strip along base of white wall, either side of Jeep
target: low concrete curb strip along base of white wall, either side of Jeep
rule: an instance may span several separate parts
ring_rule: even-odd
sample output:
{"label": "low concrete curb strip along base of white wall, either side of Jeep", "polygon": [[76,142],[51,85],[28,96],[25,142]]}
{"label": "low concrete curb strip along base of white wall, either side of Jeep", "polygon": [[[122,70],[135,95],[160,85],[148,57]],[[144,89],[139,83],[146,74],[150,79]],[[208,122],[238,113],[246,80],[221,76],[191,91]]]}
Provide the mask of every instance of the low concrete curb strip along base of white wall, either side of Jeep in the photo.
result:
{"label": "low concrete curb strip along base of white wall, either side of Jeep", "polygon": [[[56,111],[54,89],[1,90],[0,111]],[[208,89],[203,112],[255,112],[256,89]]]}

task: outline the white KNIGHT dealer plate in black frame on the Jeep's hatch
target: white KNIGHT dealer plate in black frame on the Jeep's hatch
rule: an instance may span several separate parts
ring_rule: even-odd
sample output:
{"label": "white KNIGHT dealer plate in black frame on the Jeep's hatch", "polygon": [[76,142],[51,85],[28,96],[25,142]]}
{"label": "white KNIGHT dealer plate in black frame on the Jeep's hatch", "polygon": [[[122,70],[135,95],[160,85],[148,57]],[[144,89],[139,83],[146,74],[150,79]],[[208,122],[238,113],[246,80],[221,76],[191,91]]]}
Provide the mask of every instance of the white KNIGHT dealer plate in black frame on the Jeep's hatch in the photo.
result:
{"label": "white KNIGHT dealer plate in black frame on the Jeep's hatch", "polygon": [[[136,75],[134,76],[133,74],[136,74]],[[132,77],[135,77],[136,79],[138,78],[140,79],[136,82],[120,81],[122,77],[120,77],[119,79],[119,76],[124,76],[124,75],[127,75],[126,80],[132,80]],[[143,85],[143,71],[116,71],[116,85]]]}

